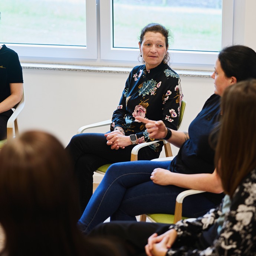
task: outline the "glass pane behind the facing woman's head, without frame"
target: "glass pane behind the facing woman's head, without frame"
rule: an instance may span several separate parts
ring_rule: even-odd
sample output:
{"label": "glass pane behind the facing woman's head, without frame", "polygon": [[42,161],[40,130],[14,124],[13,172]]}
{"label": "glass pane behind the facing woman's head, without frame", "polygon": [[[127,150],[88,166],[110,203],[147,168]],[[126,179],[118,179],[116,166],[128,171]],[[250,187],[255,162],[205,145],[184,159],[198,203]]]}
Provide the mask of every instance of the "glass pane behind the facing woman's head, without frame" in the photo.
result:
{"label": "glass pane behind the facing woman's head, without frame", "polygon": [[155,22],[170,30],[173,50],[219,52],[221,7],[221,0],[113,0],[113,48],[138,48],[141,28]]}

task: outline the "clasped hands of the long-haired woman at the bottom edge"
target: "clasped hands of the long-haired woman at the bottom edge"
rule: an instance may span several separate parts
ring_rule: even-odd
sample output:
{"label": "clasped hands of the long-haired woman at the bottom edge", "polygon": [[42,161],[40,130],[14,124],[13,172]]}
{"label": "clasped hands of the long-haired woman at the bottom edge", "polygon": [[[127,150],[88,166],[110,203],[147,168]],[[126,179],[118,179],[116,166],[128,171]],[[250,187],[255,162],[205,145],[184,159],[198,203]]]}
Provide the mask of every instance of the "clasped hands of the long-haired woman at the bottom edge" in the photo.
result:
{"label": "clasped hands of the long-haired woman at the bottom edge", "polygon": [[177,232],[174,229],[170,229],[160,236],[158,236],[157,233],[154,233],[148,238],[145,252],[148,256],[165,256],[176,239]]}

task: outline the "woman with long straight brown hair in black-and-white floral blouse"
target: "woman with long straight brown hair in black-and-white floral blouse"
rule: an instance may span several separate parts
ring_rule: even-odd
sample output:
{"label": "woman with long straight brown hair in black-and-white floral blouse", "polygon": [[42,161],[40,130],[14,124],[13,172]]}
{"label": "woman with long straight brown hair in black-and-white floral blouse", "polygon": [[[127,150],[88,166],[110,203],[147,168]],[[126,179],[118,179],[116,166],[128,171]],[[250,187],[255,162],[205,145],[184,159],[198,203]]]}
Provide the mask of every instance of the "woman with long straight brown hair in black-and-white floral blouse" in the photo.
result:
{"label": "woman with long straight brown hair in black-and-white floral blouse", "polygon": [[219,207],[197,219],[181,220],[171,226],[104,223],[91,236],[118,235],[128,255],[255,255],[256,79],[227,87],[221,99],[221,112],[215,163],[226,196]]}

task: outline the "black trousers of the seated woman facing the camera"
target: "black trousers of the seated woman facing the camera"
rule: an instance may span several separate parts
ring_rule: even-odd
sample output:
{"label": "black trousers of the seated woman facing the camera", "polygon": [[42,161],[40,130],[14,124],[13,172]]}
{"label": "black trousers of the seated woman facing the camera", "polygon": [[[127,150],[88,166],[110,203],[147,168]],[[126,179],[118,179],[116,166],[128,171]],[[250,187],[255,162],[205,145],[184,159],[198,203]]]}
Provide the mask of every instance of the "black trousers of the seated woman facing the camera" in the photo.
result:
{"label": "black trousers of the seated woman facing the camera", "polygon": [[[75,167],[81,214],[92,196],[94,171],[104,164],[130,161],[131,151],[135,146],[130,145],[124,149],[112,150],[106,142],[104,134],[84,133],[73,136],[66,147]],[[138,159],[151,160],[158,158],[160,152],[161,150],[155,152],[149,147],[144,147],[138,152]]]}

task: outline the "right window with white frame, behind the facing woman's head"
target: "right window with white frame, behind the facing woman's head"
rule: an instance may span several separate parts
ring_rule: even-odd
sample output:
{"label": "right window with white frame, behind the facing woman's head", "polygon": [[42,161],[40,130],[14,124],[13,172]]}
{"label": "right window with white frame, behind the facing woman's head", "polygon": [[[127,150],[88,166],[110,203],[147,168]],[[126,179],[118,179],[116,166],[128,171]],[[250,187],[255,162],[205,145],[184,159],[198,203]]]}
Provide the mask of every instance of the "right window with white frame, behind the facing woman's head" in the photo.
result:
{"label": "right window with white frame, behind the facing woman's head", "polygon": [[213,65],[217,52],[232,45],[233,0],[106,0],[103,9],[110,17],[101,19],[101,40],[107,42],[101,45],[102,59],[137,59],[140,30],[151,22],[173,31],[170,53],[176,67]]}

